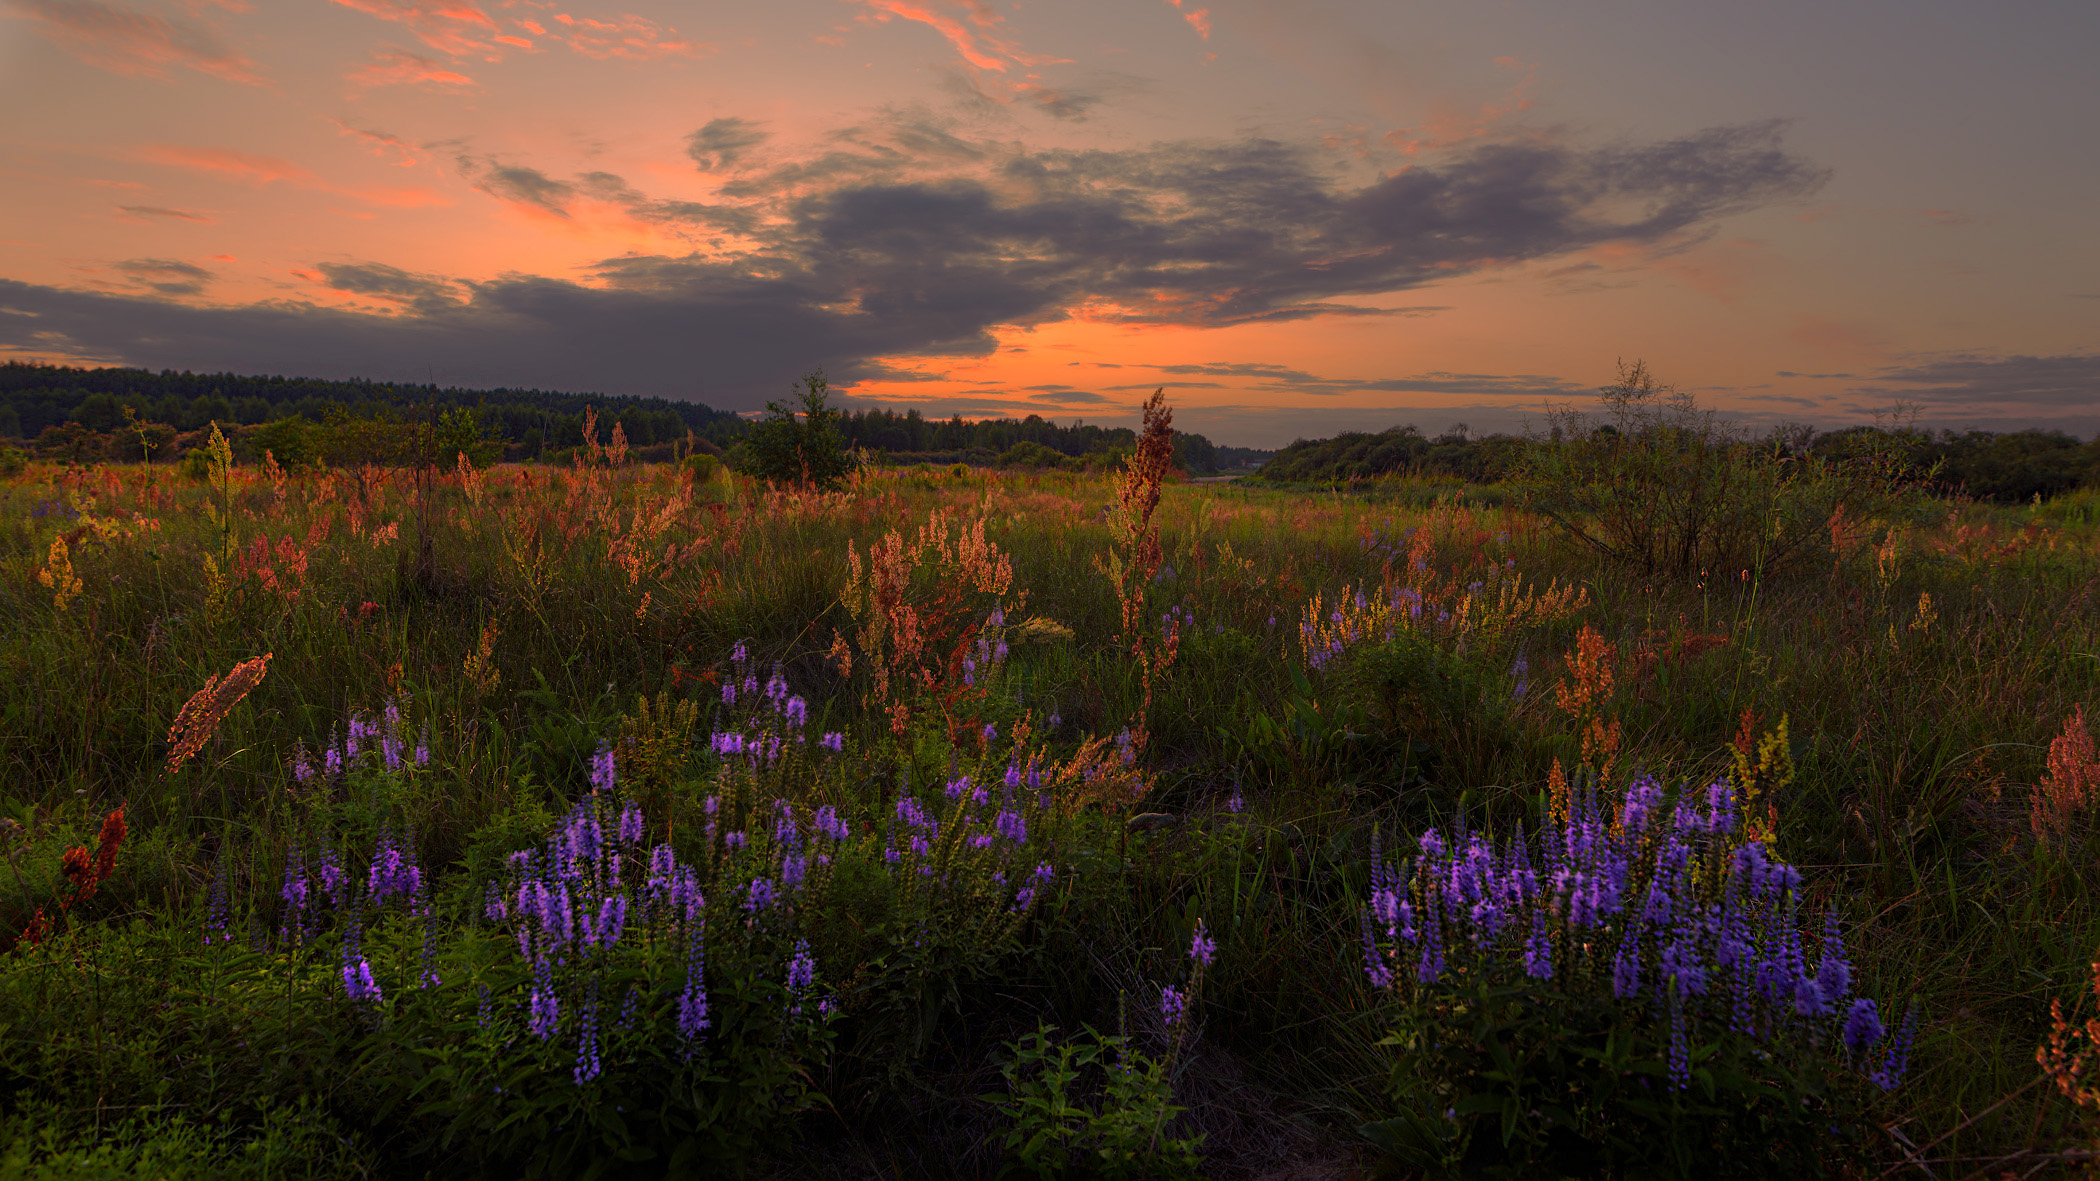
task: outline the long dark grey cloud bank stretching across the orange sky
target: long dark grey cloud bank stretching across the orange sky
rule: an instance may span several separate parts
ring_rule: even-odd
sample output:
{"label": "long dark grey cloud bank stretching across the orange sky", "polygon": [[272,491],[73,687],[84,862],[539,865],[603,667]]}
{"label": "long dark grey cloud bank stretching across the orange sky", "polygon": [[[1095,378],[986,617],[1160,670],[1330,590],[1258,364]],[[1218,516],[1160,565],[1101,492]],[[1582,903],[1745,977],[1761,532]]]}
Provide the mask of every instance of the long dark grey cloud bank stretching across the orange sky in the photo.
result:
{"label": "long dark grey cloud bank stretching across the orange sky", "polygon": [[[714,162],[756,143],[741,122],[716,120],[699,134]],[[1334,158],[1277,141],[1025,151],[920,116],[827,137],[800,162],[724,187],[720,206],[659,202],[611,172],[563,179],[470,156],[460,168],[483,191],[550,216],[609,202],[743,237],[714,254],[622,256],[582,277],[458,288],[372,263],[321,271],[332,284],[365,284],[340,290],[401,303],[391,315],[298,303],[191,309],[4,284],[17,315],[0,319],[0,349],[315,376],[420,378],[435,366],[470,385],[750,408],[811,366],[840,387],[897,380],[874,359],[989,355],[993,328],[1056,322],[1082,305],[1092,317],[1182,326],[1390,315],[1348,301],[1600,242],[1674,242],[1823,181],[1781,149],[1777,124],[1640,147],[1483,145],[1348,181]],[[1235,376],[1300,393],[1573,391],[1495,374]]]}

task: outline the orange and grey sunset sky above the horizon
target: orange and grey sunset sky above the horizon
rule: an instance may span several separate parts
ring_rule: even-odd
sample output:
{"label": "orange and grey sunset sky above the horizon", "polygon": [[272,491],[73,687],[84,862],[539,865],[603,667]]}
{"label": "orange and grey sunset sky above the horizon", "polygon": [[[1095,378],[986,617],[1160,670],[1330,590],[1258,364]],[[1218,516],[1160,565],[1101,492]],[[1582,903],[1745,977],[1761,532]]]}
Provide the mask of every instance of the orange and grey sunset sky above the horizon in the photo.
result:
{"label": "orange and grey sunset sky above the horizon", "polygon": [[2100,433],[2100,4],[0,0],[0,357]]}

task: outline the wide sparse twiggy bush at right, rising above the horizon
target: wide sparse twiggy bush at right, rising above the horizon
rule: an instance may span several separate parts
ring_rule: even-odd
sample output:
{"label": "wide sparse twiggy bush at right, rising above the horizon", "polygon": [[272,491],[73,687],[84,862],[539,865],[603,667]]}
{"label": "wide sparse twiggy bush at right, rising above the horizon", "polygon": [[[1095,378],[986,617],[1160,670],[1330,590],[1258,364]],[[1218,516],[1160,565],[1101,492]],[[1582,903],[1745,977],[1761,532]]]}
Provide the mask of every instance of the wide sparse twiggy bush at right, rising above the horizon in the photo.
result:
{"label": "wide sparse twiggy bush at right, rising above the horizon", "polygon": [[[1701,580],[1814,565],[1831,521],[1905,504],[1903,460],[1880,433],[1833,454],[1754,443],[1642,361],[1598,391],[1611,422],[1554,422],[1525,473],[1529,506],[1600,557],[1648,576]],[[1842,513],[1842,517],[1838,517]]]}

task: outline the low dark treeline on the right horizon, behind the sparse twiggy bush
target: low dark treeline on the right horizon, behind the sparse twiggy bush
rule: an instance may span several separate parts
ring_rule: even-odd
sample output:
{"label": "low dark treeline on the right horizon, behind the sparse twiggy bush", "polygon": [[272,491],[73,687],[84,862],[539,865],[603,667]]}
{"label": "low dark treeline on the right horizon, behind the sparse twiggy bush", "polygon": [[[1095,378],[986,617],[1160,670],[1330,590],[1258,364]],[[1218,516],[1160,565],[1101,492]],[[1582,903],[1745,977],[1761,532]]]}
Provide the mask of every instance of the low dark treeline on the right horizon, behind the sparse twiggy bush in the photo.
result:
{"label": "low dark treeline on the right horizon, behind the sparse twiggy bush", "polygon": [[[1613,427],[1600,427],[1613,431]],[[1470,437],[1451,431],[1426,437],[1415,427],[1392,427],[1378,435],[1344,433],[1334,439],[1298,439],[1256,471],[1273,483],[1350,485],[1382,479],[1455,479],[1499,483],[1520,477],[1533,450],[1554,439],[1520,435]],[[1751,448],[1774,454],[1898,454],[1913,479],[1942,494],[1978,500],[2018,502],[2058,496],[2075,488],[2100,488],[2100,437],[2081,443],[2062,431],[1846,431],[1812,433],[1793,429]]]}

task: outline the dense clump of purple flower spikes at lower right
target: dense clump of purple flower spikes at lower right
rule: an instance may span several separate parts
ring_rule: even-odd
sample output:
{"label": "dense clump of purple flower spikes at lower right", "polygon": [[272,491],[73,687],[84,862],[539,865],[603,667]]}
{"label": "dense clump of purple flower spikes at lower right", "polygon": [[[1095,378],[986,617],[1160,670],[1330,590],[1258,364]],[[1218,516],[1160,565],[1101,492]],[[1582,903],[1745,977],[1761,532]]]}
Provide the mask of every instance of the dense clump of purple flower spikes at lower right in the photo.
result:
{"label": "dense clump of purple flower spikes at lower right", "polygon": [[[1399,866],[1373,855],[1365,973],[1401,1002],[1388,1044],[1413,1061],[1392,1086],[1407,1112],[1367,1133],[1438,1158],[1487,1114],[1512,1152],[1554,1126],[1609,1145],[1659,1124],[1644,1135],[1684,1164],[1716,1128],[1766,1126],[1737,1107],[1779,1093],[1791,1118],[1856,1118],[1846,1103],[1900,1084],[1915,1013],[1884,1023],[1854,990],[1838,914],[1804,916],[1800,889],[1745,841],[1728,782],[1672,794],[1642,778],[1615,801],[1577,792],[1535,838],[1432,828]],[[1506,1095],[1460,1095],[1483,1078]],[[1527,1128],[1525,1112],[1544,1120]]]}

